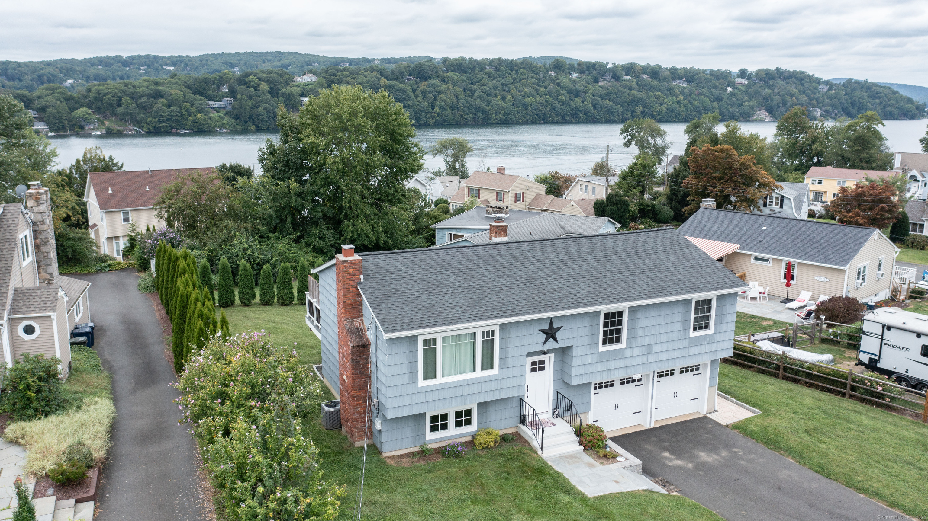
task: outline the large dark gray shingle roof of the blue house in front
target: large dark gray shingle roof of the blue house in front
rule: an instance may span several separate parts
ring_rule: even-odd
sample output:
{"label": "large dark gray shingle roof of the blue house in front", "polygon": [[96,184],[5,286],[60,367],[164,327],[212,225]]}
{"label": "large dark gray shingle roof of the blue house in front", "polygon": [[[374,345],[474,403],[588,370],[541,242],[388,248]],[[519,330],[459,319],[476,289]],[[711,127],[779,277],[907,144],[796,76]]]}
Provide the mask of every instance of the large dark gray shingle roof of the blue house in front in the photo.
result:
{"label": "large dark gray shingle roof of the blue house in front", "polygon": [[[744,286],[725,266],[669,228],[360,257],[364,282],[358,287],[385,334]],[[597,276],[565,276],[576,273],[578,263],[595,266]],[[458,284],[455,295],[434,290],[451,278],[474,286]],[[479,289],[484,287],[517,288],[517,293],[488,297]]]}

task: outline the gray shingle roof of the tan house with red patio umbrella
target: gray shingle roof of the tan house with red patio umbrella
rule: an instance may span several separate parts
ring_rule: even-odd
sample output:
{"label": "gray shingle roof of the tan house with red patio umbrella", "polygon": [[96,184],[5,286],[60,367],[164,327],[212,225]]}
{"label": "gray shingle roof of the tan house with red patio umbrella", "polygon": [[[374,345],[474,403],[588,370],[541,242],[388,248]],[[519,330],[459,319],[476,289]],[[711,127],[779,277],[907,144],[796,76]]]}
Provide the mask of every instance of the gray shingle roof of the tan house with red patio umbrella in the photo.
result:
{"label": "gray shingle roof of the tan house with red patio umbrella", "polygon": [[677,232],[739,244],[740,251],[846,268],[877,229],[701,208]]}

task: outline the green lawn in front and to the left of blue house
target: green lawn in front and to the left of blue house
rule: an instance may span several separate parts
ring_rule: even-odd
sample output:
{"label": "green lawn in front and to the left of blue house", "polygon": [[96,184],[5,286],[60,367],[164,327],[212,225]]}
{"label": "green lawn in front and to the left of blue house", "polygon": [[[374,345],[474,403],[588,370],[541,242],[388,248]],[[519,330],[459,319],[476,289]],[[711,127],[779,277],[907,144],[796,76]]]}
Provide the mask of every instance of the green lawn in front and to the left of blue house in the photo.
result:
{"label": "green lawn in front and to the left of blue house", "polygon": [[[303,306],[226,308],[229,330],[269,333],[277,343],[297,343],[305,363],[320,360],[319,340],[304,322]],[[218,312],[218,311],[217,311]],[[327,399],[329,390],[325,389]],[[345,485],[339,519],[352,518],[364,450],[354,448],[341,431],[327,431],[317,419],[305,422],[323,459],[325,479]],[[513,444],[514,445],[514,444]],[[428,464],[388,464],[373,447],[367,451],[364,519],[590,519],[718,520],[710,510],[684,496],[623,492],[587,498],[535,451],[501,444],[459,460]]]}

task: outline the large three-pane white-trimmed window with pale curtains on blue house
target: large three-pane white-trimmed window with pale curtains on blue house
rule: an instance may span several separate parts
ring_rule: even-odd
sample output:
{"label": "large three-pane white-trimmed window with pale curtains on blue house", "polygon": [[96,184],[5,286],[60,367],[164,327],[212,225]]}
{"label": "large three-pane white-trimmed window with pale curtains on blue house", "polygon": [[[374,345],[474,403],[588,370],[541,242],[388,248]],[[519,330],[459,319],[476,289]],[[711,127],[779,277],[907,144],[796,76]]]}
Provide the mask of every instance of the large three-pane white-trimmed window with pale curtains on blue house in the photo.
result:
{"label": "large three-pane white-trimmed window with pale curtains on blue house", "polygon": [[420,336],[419,385],[496,375],[498,337],[498,326]]}

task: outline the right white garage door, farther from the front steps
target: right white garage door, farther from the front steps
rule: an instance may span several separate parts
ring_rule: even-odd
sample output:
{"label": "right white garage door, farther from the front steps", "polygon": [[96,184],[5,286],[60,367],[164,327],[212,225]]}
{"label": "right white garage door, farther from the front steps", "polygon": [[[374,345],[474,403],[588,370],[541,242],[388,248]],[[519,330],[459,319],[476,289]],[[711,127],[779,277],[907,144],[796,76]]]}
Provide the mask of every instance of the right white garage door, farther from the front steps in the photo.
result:
{"label": "right white garage door, farther from the front steps", "polygon": [[707,364],[697,363],[658,371],[654,379],[654,421],[697,413],[705,401]]}

